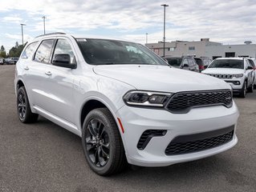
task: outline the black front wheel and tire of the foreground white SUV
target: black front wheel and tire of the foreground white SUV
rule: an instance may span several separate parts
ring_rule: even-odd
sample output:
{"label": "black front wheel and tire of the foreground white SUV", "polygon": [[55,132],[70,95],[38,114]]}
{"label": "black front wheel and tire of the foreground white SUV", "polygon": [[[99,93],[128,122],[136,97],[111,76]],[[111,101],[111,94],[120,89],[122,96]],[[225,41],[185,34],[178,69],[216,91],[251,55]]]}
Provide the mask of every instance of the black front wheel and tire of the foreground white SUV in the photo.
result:
{"label": "black front wheel and tire of the foreground white SUV", "polygon": [[109,176],[127,164],[120,132],[107,108],[91,110],[83,122],[83,153],[96,174]]}

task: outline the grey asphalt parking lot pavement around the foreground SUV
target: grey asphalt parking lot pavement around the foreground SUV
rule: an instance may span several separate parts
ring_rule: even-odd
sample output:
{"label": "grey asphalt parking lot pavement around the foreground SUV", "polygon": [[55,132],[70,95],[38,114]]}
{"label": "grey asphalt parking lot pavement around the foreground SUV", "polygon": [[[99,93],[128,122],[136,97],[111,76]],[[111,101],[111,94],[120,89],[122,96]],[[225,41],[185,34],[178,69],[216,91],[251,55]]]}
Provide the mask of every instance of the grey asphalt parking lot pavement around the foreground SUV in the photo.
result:
{"label": "grey asphalt parking lot pavement around the foreground SUV", "polygon": [[238,144],[210,158],[168,167],[128,169],[104,178],[83,157],[81,139],[39,118],[16,114],[14,66],[0,66],[0,191],[255,191],[256,90],[238,104]]}

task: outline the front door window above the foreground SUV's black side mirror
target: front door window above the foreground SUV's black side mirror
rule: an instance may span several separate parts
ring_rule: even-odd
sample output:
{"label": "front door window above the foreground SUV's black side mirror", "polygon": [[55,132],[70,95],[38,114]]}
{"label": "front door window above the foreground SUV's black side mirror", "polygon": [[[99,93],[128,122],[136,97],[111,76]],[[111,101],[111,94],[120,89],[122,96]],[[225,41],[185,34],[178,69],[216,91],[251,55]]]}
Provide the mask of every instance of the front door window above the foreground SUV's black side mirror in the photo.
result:
{"label": "front door window above the foreground SUV's black side mirror", "polygon": [[58,42],[55,46],[55,54],[68,54],[71,58],[71,63],[75,64],[75,56],[72,51],[71,45],[65,39],[58,39]]}

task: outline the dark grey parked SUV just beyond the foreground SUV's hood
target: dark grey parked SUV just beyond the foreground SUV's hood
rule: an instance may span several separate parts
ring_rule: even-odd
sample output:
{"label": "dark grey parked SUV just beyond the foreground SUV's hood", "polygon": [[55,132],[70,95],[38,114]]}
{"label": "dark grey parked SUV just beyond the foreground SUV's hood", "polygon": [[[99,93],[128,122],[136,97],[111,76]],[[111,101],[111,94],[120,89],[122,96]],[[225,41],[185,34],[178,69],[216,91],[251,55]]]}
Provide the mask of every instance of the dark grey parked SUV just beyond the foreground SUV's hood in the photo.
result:
{"label": "dark grey parked SUV just beyond the foreground SUV's hood", "polygon": [[183,70],[192,70],[199,72],[199,66],[197,62],[192,57],[168,57],[165,56],[165,59],[168,61],[170,66],[175,68],[180,68]]}

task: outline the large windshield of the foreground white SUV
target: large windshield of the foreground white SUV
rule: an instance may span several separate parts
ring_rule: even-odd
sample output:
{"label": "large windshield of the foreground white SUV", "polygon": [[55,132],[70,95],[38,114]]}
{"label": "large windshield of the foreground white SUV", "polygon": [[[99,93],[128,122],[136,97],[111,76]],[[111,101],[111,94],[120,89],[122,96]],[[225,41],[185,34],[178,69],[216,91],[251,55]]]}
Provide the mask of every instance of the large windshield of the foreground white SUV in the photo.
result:
{"label": "large windshield of the foreground white SUV", "polygon": [[133,43],[107,39],[76,39],[84,60],[91,65],[144,64],[168,66],[146,47]]}

